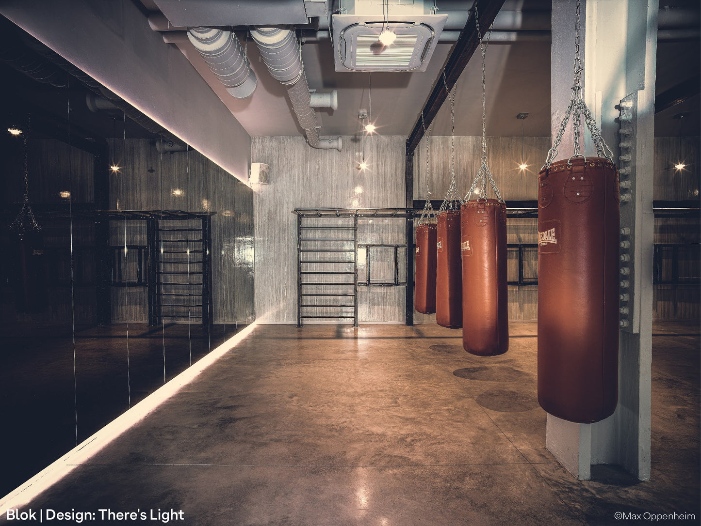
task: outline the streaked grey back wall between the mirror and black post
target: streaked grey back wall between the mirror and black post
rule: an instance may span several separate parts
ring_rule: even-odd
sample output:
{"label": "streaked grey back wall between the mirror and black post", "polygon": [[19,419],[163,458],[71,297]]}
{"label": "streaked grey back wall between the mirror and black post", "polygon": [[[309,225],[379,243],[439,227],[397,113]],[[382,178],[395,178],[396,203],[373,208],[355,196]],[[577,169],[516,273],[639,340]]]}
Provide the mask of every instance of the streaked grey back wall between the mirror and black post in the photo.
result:
{"label": "streaked grey back wall between the mirror and black post", "polygon": [[[270,184],[254,188],[259,322],[297,322],[294,208],[404,208],[404,137],[371,136],[362,141],[364,144],[356,136],[344,136],[339,152],[315,150],[301,137],[251,139],[252,162],[270,166]],[[356,167],[363,146],[369,169],[359,171]],[[402,322],[404,287],[361,291],[359,309],[361,322]]]}

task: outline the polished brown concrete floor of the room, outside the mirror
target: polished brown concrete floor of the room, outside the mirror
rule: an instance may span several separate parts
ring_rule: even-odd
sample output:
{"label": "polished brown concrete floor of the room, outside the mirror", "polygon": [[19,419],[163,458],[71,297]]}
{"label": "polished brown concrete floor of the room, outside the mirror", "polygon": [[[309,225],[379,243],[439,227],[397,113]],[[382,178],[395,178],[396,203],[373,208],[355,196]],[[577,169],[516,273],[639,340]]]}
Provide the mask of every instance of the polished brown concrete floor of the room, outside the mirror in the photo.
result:
{"label": "polished brown concrete floor of the room, outside the mirror", "polygon": [[189,525],[698,524],[698,323],[655,325],[649,482],[607,466],[577,481],[548,453],[535,335],[513,323],[509,352],[484,358],[436,325],[256,327],[29,506]]}

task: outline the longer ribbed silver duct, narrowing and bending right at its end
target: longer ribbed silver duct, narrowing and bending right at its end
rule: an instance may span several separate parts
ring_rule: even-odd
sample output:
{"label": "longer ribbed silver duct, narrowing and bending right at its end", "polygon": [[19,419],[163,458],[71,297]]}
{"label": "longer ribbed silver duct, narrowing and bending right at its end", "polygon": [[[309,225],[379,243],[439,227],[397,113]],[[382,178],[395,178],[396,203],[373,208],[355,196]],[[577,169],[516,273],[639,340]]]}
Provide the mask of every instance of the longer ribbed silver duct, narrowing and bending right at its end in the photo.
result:
{"label": "longer ribbed silver duct, narrowing and bending right at its end", "polygon": [[261,59],[271,76],[287,89],[292,110],[297,122],[304,129],[307,142],[312,148],[341,151],[341,137],[319,139],[316,113],[311,107],[309,85],[304,74],[301,49],[292,29],[259,27],[252,29],[251,36],[258,45]]}

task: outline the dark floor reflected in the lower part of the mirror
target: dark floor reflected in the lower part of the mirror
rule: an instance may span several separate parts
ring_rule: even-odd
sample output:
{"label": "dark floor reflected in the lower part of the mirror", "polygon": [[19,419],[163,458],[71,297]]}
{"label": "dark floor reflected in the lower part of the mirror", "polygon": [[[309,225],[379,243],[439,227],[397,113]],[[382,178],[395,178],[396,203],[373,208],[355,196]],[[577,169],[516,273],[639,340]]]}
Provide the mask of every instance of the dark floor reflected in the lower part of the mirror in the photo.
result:
{"label": "dark floor reflected in the lower part of the mirror", "polygon": [[0,496],[242,327],[0,325]]}

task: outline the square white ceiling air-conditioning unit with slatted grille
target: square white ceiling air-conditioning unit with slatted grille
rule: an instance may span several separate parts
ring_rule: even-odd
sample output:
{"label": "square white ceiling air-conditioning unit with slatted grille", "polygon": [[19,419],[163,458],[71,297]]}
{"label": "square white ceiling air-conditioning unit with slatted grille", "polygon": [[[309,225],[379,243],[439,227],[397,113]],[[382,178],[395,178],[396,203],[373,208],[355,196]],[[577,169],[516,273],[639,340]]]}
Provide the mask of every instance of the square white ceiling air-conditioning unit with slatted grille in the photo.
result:
{"label": "square white ceiling air-conditioning unit with slatted grille", "polygon": [[[447,18],[413,15],[412,20],[378,22],[374,16],[334,15],[336,71],[426,71]],[[383,29],[397,35],[392,44],[379,41]]]}

